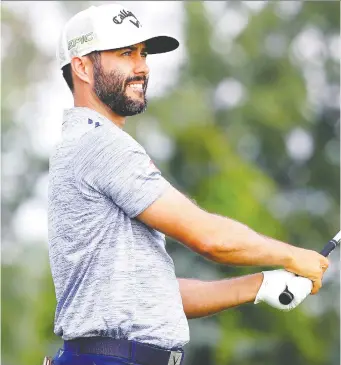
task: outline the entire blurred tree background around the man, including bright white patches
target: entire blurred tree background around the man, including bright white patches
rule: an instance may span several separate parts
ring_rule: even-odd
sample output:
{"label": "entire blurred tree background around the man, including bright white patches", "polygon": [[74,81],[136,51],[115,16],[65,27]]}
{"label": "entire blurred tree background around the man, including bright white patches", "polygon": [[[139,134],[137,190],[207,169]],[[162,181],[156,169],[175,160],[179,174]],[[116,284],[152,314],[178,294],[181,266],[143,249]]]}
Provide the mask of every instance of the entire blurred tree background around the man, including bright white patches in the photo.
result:
{"label": "entire blurred tree background around the man, including bright white patches", "polygon": [[[64,22],[102,2],[6,2],[2,11],[2,363],[54,354],[48,156],[72,105],[54,58]],[[181,40],[151,56],[149,108],[126,131],[203,208],[297,246],[339,230],[339,2],[126,2]],[[142,22],[143,24],[143,22]],[[154,75],[154,76],[153,76]],[[167,241],[178,277],[258,271]],[[252,304],[190,320],[185,365],[340,363],[338,252],[290,313]]]}

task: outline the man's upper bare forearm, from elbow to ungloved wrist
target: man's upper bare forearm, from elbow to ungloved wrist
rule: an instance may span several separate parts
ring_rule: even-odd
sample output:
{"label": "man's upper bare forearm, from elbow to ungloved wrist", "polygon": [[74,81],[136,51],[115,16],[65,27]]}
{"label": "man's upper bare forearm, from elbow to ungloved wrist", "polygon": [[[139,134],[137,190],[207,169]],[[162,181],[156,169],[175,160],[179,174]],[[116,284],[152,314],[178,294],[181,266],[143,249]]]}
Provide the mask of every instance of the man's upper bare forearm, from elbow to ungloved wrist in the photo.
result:
{"label": "man's upper bare forearm, from elbow to ungloved wrist", "polygon": [[300,250],[229,218],[210,215],[209,221],[211,247],[204,255],[219,263],[288,267],[294,252]]}

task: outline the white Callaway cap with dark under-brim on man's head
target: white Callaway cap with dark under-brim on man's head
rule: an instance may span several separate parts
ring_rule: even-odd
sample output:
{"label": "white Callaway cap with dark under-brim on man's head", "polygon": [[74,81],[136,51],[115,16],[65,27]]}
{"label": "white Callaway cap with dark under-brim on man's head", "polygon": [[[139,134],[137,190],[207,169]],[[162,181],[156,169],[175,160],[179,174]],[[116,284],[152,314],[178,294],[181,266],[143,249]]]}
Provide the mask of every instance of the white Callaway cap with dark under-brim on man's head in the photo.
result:
{"label": "white Callaway cap with dark under-brim on man's head", "polygon": [[64,26],[57,59],[60,68],[93,51],[104,51],[146,42],[148,54],[170,52],[179,42],[155,34],[126,7],[119,4],[91,6],[74,15]]}

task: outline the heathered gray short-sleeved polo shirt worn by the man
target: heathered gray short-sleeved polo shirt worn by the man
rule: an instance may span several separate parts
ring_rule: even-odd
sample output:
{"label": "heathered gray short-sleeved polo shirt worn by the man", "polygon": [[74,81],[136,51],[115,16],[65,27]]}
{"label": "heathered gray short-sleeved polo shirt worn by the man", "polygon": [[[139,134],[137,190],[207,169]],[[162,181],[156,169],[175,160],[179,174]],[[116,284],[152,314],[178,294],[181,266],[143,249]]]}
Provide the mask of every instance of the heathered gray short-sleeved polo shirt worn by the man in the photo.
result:
{"label": "heathered gray short-sleeved polo shirt worn by the man", "polygon": [[64,340],[189,341],[165,236],[135,217],[169,187],[141,145],[89,108],[64,112],[50,157],[49,258]]}

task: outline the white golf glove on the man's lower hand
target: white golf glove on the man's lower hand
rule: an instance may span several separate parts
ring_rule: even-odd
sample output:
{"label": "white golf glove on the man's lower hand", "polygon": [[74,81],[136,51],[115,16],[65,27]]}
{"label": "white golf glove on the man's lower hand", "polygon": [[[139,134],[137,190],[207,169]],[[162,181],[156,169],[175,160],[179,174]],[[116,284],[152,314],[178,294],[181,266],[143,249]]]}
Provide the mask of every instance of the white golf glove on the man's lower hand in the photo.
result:
{"label": "white golf glove on the man's lower hand", "polygon": [[[263,283],[257,293],[255,304],[265,302],[282,311],[290,311],[302,303],[313,288],[311,280],[286,270],[263,271],[263,275]],[[283,305],[278,298],[286,287],[294,295],[294,299],[290,304]]]}

